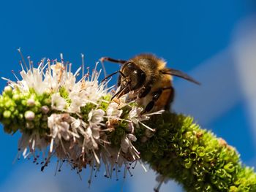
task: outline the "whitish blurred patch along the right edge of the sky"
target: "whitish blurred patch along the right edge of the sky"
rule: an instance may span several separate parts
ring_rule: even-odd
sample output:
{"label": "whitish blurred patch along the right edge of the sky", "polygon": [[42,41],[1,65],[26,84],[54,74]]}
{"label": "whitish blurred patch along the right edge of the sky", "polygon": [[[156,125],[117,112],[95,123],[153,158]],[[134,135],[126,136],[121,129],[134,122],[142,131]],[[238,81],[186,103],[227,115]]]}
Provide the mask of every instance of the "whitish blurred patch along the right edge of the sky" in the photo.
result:
{"label": "whitish blurred patch along the right edge of the sky", "polygon": [[[239,25],[234,35],[232,45],[236,58],[238,77],[244,99],[247,115],[256,138],[256,16],[246,18]],[[256,146],[256,139],[255,146]]]}

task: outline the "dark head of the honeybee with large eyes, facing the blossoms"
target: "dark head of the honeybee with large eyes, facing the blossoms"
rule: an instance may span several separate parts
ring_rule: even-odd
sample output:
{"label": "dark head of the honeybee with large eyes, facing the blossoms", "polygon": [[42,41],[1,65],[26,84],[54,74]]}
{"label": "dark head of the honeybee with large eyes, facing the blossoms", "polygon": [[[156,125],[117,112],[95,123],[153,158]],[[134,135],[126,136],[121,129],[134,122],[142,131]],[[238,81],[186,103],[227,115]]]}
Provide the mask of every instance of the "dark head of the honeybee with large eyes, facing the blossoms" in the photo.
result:
{"label": "dark head of the honeybee with large eyes, facing the blossoms", "polygon": [[131,61],[125,63],[121,67],[120,72],[118,84],[121,86],[121,89],[125,89],[123,94],[141,88],[146,80],[145,72]]}

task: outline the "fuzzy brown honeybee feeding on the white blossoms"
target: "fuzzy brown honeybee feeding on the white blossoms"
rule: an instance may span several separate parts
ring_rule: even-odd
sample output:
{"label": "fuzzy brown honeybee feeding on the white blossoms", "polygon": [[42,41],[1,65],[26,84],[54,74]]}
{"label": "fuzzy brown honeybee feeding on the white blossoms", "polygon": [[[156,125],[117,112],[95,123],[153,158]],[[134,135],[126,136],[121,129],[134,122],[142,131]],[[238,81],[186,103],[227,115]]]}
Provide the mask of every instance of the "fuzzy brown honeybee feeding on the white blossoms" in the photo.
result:
{"label": "fuzzy brown honeybee feeding on the white blossoms", "polygon": [[137,99],[144,106],[144,112],[170,110],[174,99],[173,76],[181,77],[200,85],[188,74],[166,67],[166,62],[153,54],[140,54],[129,60],[102,57],[99,61],[121,64],[121,69],[105,77],[104,80],[118,74],[118,91],[113,98],[129,93],[129,98]]}

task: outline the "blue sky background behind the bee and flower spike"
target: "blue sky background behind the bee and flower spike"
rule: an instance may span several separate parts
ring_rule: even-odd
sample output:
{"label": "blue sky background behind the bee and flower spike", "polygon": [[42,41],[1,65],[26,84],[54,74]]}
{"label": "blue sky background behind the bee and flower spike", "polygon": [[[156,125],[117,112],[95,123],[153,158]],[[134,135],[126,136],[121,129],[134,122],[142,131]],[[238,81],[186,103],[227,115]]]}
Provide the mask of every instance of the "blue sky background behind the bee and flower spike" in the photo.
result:
{"label": "blue sky background behind the bee and flower spike", "polygon": [[[235,58],[230,55],[239,55],[234,54],[232,47],[236,45],[236,39],[242,37],[235,37],[235,32],[239,31],[239,26],[244,28],[239,23],[253,15],[255,8],[253,0],[1,1],[0,75],[13,78],[11,70],[18,72],[18,47],[34,61],[43,57],[59,58],[59,53],[64,53],[64,58],[74,66],[80,66],[80,53],[85,54],[88,66],[94,66],[106,55],[127,59],[138,53],[155,53],[165,58],[169,67],[191,72],[202,82],[200,88],[195,88],[175,80],[178,92],[175,109],[195,115],[204,127],[235,145],[244,162],[254,165],[256,145],[252,128],[255,127],[246,107],[248,97],[240,88],[241,76],[236,73],[235,63],[238,62],[233,62]],[[116,69],[117,65],[107,64],[108,73]],[[222,74],[217,69],[229,70]],[[214,70],[215,74],[212,73]],[[219,82],[223,86],[217,86],[217,80],[223,80]],[[1,89],[5,83],[0,81]],[[210,89],[210,85],[216,90],[223,87],[218,90],[222,94],[215,96],[217,93]],[[235,91],[227,90],[225,86]],[[228,97],[225,91],[230,93]],[[203,99],[199,99],[199,95]],[[195,103],[197,105],[193,106]],[[218,103],[221,106],[217,107]],[[36,174],[40,180],[45,180],[45,184],[49,182],[45,177],[53,176],[49,171],[42,177],[44,174],[39,168],[26,160],[12,164],[17,142],[18,134],[10,136],[0,130],[0,191],[14,191],[10,183],[14,178],[18,180],[20,172],[24,177],[26,173]],[[59,186],[67,183],[68,177],[69,174],[63,173],[53,180]],[[77,177],[72,178],[75,184],[70,186],[87,190],[86,180],[77,180]],[[114,180],[106,182],[105,178],[98,180],[91,191],[120,191],[123,185]],[[154,179],[150,182],[154,183]],[[99,183],[105,184],[99,188]],[[129,183],[133,183],[132,179],[124,183],[124,191],[132,191]],[[15,189],[19,190],[23,191],[21,187]],[[69,191],[62,189],[65,190]]]}

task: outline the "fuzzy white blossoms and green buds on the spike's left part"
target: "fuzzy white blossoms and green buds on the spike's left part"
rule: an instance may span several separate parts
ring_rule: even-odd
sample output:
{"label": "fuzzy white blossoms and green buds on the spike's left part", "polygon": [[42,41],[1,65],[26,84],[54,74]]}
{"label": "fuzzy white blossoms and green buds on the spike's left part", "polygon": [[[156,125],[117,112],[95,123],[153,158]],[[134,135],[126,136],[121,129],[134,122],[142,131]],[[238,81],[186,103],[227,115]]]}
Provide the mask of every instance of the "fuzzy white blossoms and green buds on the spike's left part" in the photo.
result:
{"label": "fuzzy white blossoms and green buds on the spike's left part", "polygon": [[141,121],[152,114],[142,114],[134,101],[127,104],[126,96],[111,101],[108,82],[99,83],[97,65],[91,74],[89,69],[84,74],[84,66],[73,74],[63,59],[42,60],[37,68],[23,61],[21,67],[21,80],[4,78],[9,85],[0,96],[4,131],[22,134],[19,158],[32,156],[38,162],[42,156],[42,171],[53,155],[78,172],[103,163],[106,177],[140,159],[133,145],[135,128],[146,126]]}

